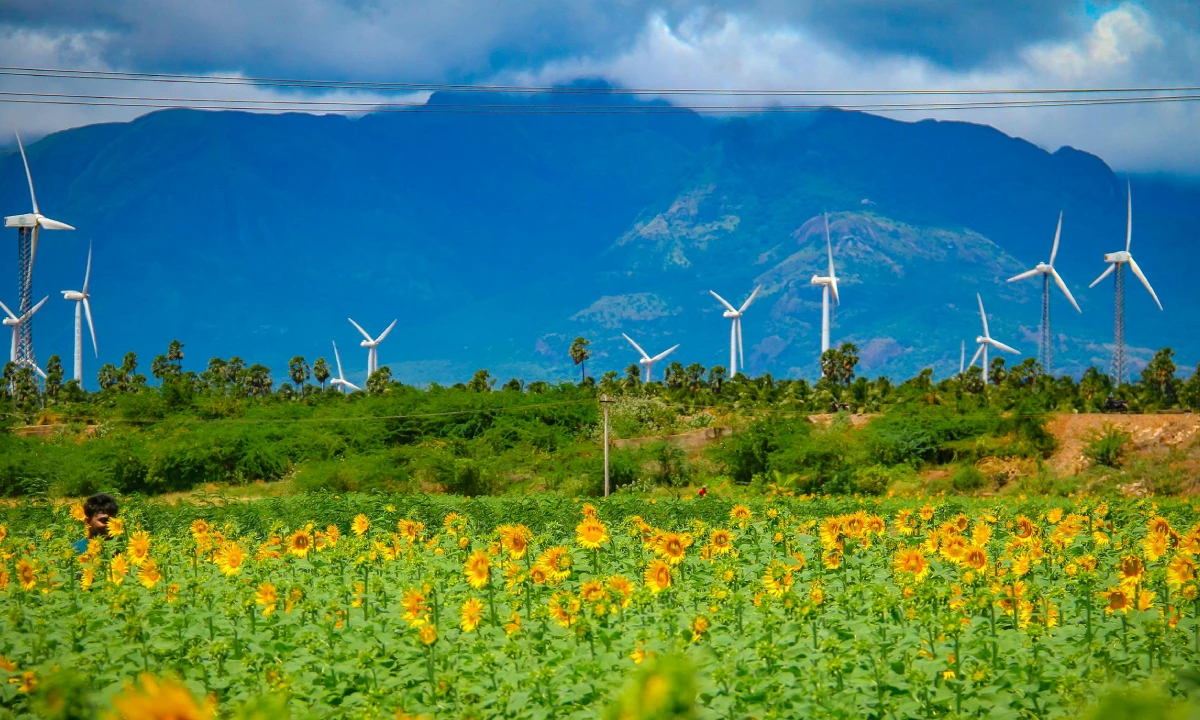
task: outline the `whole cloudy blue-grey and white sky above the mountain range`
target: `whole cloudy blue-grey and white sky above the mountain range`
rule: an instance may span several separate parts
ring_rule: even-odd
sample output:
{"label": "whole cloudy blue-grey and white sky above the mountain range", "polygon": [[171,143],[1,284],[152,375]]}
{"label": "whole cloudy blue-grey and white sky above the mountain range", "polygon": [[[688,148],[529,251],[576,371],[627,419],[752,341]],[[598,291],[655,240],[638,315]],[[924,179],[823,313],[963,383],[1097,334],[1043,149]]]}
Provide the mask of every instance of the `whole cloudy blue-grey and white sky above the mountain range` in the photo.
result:
{"label": "whole cloudy blue-grey and white sky above the mountain range", "polygon": [[[1200,12],[1192,0],[5,0],[0,65],[631,88],[1200,86]],[[12,76],[2,91],[288,97]],[[0,103],[0,124],[37,136],[140,112]],[[1196,102],[956,113],[898,116],[989,122],[1118,169],[1200,174]]]}

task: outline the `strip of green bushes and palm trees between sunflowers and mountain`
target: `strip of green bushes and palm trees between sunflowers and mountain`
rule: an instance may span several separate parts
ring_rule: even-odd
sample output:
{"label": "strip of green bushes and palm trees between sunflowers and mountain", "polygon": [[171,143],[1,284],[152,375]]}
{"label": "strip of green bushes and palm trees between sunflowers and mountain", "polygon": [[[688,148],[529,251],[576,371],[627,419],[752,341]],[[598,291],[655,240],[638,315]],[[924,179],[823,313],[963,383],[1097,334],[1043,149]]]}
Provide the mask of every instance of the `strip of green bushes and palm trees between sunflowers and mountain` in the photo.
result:
{"label": "strip of green bushes and palm trees between sunflowers and mountain", "polygon": [[[1169,348],[1134,383],[1115,388],[1096,368],[1076,382],[1042,373],[1032,359],[995,359],[986,384],[979,368],[940,382],[928,370],[900,383],[869,379],[856,373],[858,352],[848,343],[826,354],[817,383],[728,378],[720,366],[678,362],[662,382],[641,382],[637,366],[595,379],[582,372],[586,343],[576,344],[580,383],[500,382],[480,370],[466,383],[414,388],[384,367],[350,394],[330,386],[324,359],[294,358],[288,379],[276,383],[269,368],[239,358],[185,370],[178,342],[151,362],[152,379],[131,353],[120,367],[100,370],[95,392],[62,383],[56,358],[44,386],[8,364],[0,422],[13,432],[0,432],[0,494],[157,494],[287,480],[294,491],[595,496],[604,482],[601,396],[614,400],[617,488],[973,492],[1012,480],[1012,472],[988,470],[996,458],[1019,461],[1022,490],[1066,492],[1070,485],[1043,462],[1055,450],[1050,414],[1100,412],[1115,400],[1134,413],[1200,404],[1200,373],[1177,378]],[[817,414],[828,421],[815,422]],[[49,432],[25,437],[29,426]],[[714,431],[701,446],[671,437],[704,428]],[[1117,482],[1128,440],[1105,428],[1084,454]],[[1177,491],[1177,475],[1151,490]]]}

